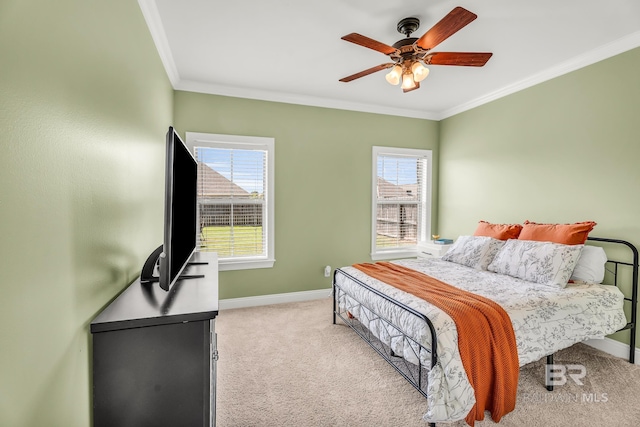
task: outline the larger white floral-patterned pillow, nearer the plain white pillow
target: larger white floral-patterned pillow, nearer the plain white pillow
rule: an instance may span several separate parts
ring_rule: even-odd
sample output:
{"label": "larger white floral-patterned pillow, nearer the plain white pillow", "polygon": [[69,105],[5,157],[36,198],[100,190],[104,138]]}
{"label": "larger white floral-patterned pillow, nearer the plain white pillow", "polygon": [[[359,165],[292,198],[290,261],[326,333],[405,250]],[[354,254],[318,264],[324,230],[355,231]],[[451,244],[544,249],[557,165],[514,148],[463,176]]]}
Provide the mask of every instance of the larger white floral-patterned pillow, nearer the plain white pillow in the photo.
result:
{"label": "larger white floral-patterned pillow, nearer the plain white pillow", "polygon": [[529,282],[564,288],[583,246],[510,239],[487,269]]}

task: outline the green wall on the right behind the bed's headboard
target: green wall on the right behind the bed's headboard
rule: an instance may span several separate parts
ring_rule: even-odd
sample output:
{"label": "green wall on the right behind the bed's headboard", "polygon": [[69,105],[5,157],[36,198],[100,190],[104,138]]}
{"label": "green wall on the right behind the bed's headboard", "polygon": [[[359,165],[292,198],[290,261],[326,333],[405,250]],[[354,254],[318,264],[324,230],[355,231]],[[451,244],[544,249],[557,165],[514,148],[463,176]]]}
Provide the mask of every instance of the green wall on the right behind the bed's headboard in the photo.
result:
{"label": "green wall on the right behind the bed's headboard", "polygon": [[594,220],[640,247],[638,69],[640,48],[442,121],[440,234]]}

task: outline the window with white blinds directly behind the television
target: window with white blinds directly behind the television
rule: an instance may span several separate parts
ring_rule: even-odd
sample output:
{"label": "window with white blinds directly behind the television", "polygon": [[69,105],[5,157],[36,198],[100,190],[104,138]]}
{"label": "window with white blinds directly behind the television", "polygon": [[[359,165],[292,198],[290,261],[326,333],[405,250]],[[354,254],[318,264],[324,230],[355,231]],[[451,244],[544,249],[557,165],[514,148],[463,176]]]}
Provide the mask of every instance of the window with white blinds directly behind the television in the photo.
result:
{"label": "window with white blinds directly behind the television", "polygon": [[273,138],[187,132],[198,161],[198,250],[219,268],[272,267]]}

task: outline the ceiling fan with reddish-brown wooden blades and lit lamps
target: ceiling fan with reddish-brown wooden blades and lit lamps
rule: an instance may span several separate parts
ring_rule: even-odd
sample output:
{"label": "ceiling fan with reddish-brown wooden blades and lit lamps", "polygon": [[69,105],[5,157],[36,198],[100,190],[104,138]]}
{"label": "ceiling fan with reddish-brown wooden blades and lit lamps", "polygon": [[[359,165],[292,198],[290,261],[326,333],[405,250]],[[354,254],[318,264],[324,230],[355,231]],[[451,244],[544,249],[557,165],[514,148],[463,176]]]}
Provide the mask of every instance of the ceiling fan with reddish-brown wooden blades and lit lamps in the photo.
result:
{"label": "ceiling fan with reddish-brown wooden blades and lit lamps", "polygon": [[456,7],[420,38],[410,37],[411,33],[420,26],[420,20],[418,18],[404,18],[398,23],[397,29],[406,38],[397,41],[392,46],[358,33],[347,34],[342,37],[342,40],[384,53],[393,62],[387,62],[360,71],[344,77],[340,81],[350,82],[377,71],[391,68],[391,71],[386,75],[387,81],[392,85],[402,82],[402,91],[406,93],[418,89],[420,82],[429,75],[429,69],[425,65],[482,67],[491,58],[492,53],[431,52],[431,49],[460,31],[477,17],[478,15],[473,12],[469,12],[462,7]]}

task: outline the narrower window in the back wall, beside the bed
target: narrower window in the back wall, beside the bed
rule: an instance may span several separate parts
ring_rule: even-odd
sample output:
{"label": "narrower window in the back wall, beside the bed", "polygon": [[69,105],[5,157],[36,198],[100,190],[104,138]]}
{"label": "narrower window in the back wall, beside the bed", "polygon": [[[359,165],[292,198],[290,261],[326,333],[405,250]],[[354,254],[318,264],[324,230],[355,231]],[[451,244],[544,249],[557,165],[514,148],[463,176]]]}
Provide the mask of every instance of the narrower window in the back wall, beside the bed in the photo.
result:
{"label": "narrower window in the back wall, beside the bed", "polygon": [[374,260],[415,256],[431,230],[431,150],[373,147]]}

